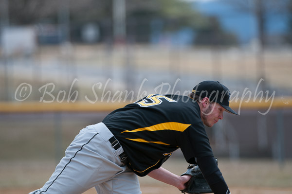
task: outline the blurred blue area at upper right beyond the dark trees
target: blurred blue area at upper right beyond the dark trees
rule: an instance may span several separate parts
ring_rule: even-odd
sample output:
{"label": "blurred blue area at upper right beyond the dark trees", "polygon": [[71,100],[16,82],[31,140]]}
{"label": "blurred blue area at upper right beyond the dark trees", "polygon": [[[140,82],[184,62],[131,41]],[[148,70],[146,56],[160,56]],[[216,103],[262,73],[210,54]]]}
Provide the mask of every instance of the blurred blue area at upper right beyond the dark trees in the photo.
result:
{"label": "blurred blue area at upper right beyond the dark trees", "polygon": [[[257,22],[252,13],[238,12],[231,5],[220,0],[186,0],[192,1],[194,7],[202,14],[217,16],[222,27],[235,33],[241,43],[247,43],[257,37]],[[287,31],[286,15],[268,15],[266,32],[268,35],[282,34]]]}

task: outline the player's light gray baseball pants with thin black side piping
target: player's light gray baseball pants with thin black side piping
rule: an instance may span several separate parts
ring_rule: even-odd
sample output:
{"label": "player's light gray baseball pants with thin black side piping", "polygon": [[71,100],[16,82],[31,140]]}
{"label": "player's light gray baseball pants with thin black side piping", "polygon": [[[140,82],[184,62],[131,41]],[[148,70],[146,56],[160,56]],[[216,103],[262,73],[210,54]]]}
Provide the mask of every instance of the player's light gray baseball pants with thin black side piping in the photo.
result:
{"label": "player's light gray baseball pants with thin black side piping", "polygon": [[98,194],[141,194],[138,177],[118,157],[104,123],[80,130],[45,185],[30,194],[82,194],[95,187]]}

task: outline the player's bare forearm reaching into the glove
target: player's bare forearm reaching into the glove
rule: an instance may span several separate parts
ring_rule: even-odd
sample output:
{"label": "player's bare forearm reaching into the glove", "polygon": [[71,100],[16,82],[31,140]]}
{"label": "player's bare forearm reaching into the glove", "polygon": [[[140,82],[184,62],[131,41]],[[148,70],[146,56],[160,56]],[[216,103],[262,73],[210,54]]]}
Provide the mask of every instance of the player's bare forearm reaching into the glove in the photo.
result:
{"label": "player's bare forearm reaching into the glove", "polygon": [[164,169],[163,167],[160,167],[159,169],[151,171],[148,176],[159,180],[161,182],[164,182],[166,184],[175,186],[178,189],[184,189],[186,183],[189,179],[190,176],[178,176],[175,175],[168,170]]}

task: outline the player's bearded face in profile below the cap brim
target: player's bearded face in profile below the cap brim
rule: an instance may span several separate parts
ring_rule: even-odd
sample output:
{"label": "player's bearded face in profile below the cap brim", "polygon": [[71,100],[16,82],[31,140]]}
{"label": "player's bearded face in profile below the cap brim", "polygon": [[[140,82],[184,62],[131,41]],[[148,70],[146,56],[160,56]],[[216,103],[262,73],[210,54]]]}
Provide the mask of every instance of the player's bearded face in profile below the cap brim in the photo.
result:
{"label": "player's bearded face in profile below the cap brim", "polygon": [[220,106],[218,103],[210,103],[206,106],[205,110],[202,111],[202,121],[206,126],[213,126],[215,123],[219,121],[219,119],[223,119],[223,112],[225,108]]}

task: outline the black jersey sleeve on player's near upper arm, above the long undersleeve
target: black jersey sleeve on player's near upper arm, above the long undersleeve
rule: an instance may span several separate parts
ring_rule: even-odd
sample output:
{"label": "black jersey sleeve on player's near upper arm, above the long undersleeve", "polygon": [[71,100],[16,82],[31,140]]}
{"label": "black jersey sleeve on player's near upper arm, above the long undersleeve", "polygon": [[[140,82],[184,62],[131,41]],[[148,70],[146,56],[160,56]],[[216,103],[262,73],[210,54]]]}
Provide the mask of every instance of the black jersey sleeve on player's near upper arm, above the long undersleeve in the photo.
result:
{"label": "black jersey sleeve on player's near upper arm, above the long undersleeve", "polygon": [[180,148],[185,160],[190,164],[196,164],[196,158],[213,156],[213,151],[202,122],[189,126],[180,137]]}

